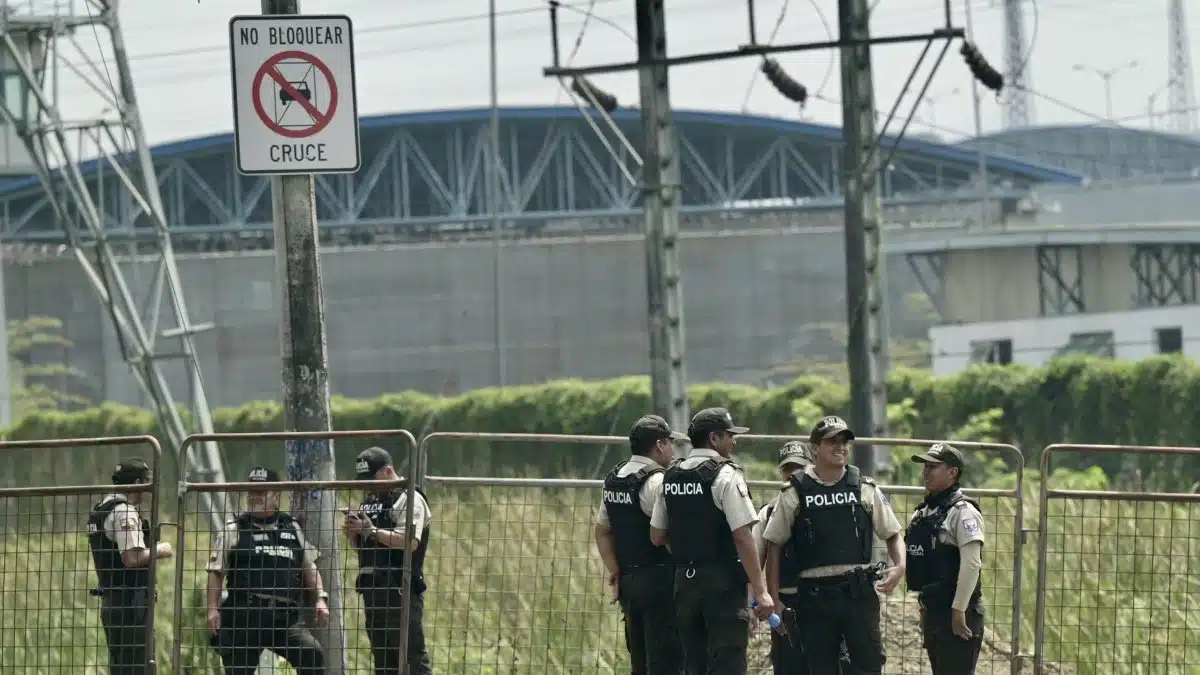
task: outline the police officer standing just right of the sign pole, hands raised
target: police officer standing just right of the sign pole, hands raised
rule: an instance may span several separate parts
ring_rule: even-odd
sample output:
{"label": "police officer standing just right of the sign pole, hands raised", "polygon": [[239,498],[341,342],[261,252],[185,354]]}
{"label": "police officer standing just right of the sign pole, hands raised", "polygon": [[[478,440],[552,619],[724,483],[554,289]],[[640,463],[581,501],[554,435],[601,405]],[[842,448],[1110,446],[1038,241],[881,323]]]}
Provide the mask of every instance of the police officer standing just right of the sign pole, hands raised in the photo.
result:
{"label": "police officer standing just right of the sign pole, hands raised", "polygon": [[[367,448],[354,464],[359,480],[397,480],[391,455],[383,448]],[[412,551],[413,583],[408,615],[408,675],[430,675],[433,668],[425,646],[421,626],[425,613],[425,551],[430,546],[430,503],[425,491],[415,488],[413,533],[406,537],[407,485],[371,491],[358,510],[346,514],[343,531],[350,546],[359,552],[356,589],[362,596],[367,638],[374,657],[376,675],[400,675],[406,662],[400,653],[403,625],[401,589],[404,556]]]}

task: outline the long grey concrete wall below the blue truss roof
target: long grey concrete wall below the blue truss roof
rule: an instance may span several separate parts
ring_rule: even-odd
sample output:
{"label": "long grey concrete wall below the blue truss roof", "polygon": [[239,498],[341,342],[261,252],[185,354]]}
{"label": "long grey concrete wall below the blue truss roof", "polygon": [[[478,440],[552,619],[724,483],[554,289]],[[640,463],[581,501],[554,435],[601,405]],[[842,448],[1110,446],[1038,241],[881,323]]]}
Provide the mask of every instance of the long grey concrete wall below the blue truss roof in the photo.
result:
{"label": "long grey concrete wall below the blue truss roof", "polygon": [[[680,251],[692,382],[761,383],[773,366],[818,348],[802,327],[845,322],[841,234],[833,228],[689,234]],[[640,238],[515,241],[503,256],[510,384],[647,371]],[[322,261],[334,393],[460,393],[496,383],[488,243],[330,249]],[[192,321],[216,324],[197,338],[210,404],[277,400],[272,255],[179,256],[179,268]],[[128,265],[139,298],[152,273],[149,262]],[[890,261],[888,273],[898,331],[907,318],[902,297],[919,287],[902,259]],[[11,317],[66,323],[74,348],[60,356],[89,376],[79,393],[144,405],[72,257],[6,261],[5,275]],[[160,341],[160,352],[176,350]],[[176,396],[188,400],[181,369],[167,368]]]}

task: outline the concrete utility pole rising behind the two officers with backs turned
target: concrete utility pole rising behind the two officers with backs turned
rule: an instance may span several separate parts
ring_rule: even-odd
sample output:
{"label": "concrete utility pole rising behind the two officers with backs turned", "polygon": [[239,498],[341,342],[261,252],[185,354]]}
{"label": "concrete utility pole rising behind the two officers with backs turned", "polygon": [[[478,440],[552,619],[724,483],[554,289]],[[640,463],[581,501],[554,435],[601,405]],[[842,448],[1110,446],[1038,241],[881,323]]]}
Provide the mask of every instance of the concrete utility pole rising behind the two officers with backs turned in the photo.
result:
{"label": "concrete utility pole rising behind the two officers with backs turned", "polygon": [[646,297],[649,303],[650,400],[673,429],[691,413],[684,370],[683,292],[679,287],[679,197],[682,180],[667,65],[662,0],[637,2],[637,67],[642,98],[642,183],[646,199]]}

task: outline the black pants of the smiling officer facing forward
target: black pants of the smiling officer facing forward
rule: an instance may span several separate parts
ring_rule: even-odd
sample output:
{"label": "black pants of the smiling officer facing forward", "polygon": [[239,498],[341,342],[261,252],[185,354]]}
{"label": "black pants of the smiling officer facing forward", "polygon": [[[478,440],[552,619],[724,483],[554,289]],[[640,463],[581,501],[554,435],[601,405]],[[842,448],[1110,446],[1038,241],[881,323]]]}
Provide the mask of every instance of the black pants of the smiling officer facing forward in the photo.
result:
{"label": "black pants of the smiling officer facing forward", "polygon": [[[874,575],[802,579],[799,634],[811,675],[880,675],[887,657]],[[848,664],[842,656],[845,641]]]}

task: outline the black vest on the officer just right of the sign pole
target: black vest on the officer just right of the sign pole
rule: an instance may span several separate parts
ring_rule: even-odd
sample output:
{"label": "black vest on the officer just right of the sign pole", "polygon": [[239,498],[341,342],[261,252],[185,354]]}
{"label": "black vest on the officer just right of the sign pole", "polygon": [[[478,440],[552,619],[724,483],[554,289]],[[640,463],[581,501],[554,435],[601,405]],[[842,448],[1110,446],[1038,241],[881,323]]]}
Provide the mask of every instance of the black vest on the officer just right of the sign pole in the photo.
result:
{"label": "black vest on the officer just right of the sign pole", "polygon": [[[416,494],[428,503],[425,490],[415,488]],[[404,514],[394,513],[392,504],[401,495],[407,495],[408,488],[396,488],[390,492],[371,492],[362,501],[359,509],[376,527],[380,530],[395,530],[404,527]],[[410,507],[409,507],[410,508]],[[421,540],[413,551],[413,591],[425,592],[425,550],[430,548],[430,521],[425,521],[421,530]],[[359,589],[400,589],[404,572],[404,556],[408,555],[404,548],[389,549],[379,544],[374,538],[366,542],[359,540],[359,568],[370,567],[374,572],[359,573]]]}

